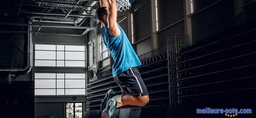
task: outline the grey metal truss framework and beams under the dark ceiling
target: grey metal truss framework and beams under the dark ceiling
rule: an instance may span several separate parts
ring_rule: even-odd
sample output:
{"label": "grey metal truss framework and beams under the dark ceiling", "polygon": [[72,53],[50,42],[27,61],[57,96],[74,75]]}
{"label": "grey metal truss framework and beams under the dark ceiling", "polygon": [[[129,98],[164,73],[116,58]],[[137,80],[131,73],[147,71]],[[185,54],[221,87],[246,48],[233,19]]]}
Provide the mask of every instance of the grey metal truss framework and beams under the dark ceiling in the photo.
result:
{"label": "grey metal truss framework and beams under the dark ceiling", "polygon": [[[3,0],[2,2],[0,2],[0,4],[4,3],[6,0]],[[84,5],[83,3],[87,3],[88,1],[97,1],[99,2],[99,0],[76,0],[74,2],[74,0],[70,0],[70,1],[60,1],[60,0],[21,0],[20,3],[17,3],[18,0],[12,0],[15,5],[18,7],[18,11],[16,12],[17,15],[19,15],[20,13],[25,14],[25,16],[28,18],[28,20],[32,23],[32,24],[25,24],[25,23],[0,23],[0,25],[12,25],[12,26],[34,26],[34,27],[39,27],[37,32],[25,32],[25,31],[6,31],[6,30],[1,30],[0,33],[34,33],[35,35],[38,34],[47,34],[47,35],[69,35],[69,36],[84,36],[87,32],[89,32],[90,30],[94,30],[95,28],[90,25],[90,27],[84,27],[81,26],[86,20],[87,18],[91,18],[94,19],[94,15],[90,15],[89,13],[93,10],[96,9],[96,6],[88,6],[88,5]],[[30,4],[29,4],[29,3]],[[31,4],[34,3],[34,4]],[[32,7],[36,7],[36,9],[39,11],[28,11],[28,10],[23,10],[22,6],[32,6]],[[39,9],[39,8],[44,8],[43,10]],[[48,9],[48,10],[47,10]],[[53,9],[61,9],[61,11],[63,13],[52,13],[51,11]],[[66,12],[65,10],[67,10],[68,12]],[[46,12],[47,11],[47,12]],[[80,11],[83,12],[82,14],[72,14],[71,12],[74,11]],[[79,13],[80,13],[79,12]],[[35,18],[29,16],[28,14],[32,14],[32,16],[41,16],[37,21],[35,20]],[[49,17],[56,17],[56,18],[61,18],[61,19],[66,19],[66,21],[71,21],[71,22],[64,22],[64,23],[73,23],[74,26],[68,26],[68,25],[42,25],[40,24],[40,22],[47,22],[46,20],[43,19],[47,19]],[[79,21],[74,20],[74,18],[76,19],[80,19]],[[76,22],[77,21],[77,22]],[[50,22],[50,21],[48,21]],[[80,22],[80,23],[79,23]],[[77,35],[77,34],[61,34],[61,33],[43,33],[43,32],[39,32],[41,27],[52,27],[52,28],[71,28],[71,29],[86,29],[81,35]]]}

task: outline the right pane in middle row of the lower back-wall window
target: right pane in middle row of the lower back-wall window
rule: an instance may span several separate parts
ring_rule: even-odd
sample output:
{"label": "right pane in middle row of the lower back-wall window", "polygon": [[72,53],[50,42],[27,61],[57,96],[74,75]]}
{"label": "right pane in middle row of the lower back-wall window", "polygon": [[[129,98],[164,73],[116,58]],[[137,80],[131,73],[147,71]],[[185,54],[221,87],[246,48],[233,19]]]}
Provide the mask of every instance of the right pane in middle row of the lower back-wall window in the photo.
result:
{"label": "right pane in middle row of the lower back-wall window", "polygon": [[[65,80],[66,88],[85,88],[85,80]],[[67,87],[68,85],[68,87]]]}

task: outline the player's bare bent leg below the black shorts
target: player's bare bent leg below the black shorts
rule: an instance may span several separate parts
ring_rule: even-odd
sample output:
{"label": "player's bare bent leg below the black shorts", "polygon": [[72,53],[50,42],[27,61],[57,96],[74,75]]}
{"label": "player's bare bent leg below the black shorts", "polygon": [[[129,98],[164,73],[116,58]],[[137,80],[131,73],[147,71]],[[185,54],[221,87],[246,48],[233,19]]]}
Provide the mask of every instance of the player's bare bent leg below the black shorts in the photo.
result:
{"label": "player's bare bent leg below the black shorts", "polygon": [[[124,94],[122,95],[121,98],[122,101],[122,106],[125,105],[133,105],[133,106],[145,106],[148,104],[149,97],[148,95],[142,96],[141,93],[138,97],[135,97],[134,95],[131,94]],[[120,103],[117,103],[117,106],[120,106]]]}

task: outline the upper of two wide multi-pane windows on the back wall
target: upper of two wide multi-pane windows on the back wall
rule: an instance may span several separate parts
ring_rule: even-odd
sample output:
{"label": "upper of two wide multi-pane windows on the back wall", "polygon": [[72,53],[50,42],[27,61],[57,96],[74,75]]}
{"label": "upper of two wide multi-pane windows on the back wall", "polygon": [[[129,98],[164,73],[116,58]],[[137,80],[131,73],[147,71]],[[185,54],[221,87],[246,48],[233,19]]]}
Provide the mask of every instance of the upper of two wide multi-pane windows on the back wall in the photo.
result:
{"label": "upper of two wide multi-pane windows on the back wall", "polygon": [[35,66],[85,67],[85,46],[35,44]]}

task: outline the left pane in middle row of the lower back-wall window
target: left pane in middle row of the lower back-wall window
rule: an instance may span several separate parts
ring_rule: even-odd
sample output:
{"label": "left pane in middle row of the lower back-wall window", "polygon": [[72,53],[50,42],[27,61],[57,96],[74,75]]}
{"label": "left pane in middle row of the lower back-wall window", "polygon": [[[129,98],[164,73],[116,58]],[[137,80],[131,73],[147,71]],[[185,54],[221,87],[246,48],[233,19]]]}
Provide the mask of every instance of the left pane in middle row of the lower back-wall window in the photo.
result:
{"label": "left pane in middle row of the lower back-wall window", "polygon": [[35,88],[56,88],[56,80],[47,79],[47,80],[40,80],[35,79]]}

